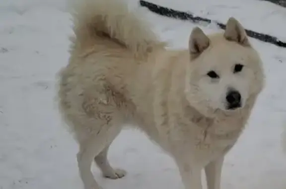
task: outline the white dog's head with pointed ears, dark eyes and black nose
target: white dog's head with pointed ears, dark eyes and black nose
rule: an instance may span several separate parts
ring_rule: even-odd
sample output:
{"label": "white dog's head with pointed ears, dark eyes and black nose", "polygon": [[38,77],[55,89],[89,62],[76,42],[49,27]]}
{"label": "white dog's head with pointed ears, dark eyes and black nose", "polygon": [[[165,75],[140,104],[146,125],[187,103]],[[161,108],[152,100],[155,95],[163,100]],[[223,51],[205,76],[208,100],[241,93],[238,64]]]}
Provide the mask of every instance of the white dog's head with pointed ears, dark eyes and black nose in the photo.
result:
{"label": "white dog's head with pointed ears, dark eyes and black nose", "polygon": [[230,18],[222,34],[207,36],[194,28],[189,41],[186,95],[203,114],[236,111],[264,86],[258,53],[240,23]]}

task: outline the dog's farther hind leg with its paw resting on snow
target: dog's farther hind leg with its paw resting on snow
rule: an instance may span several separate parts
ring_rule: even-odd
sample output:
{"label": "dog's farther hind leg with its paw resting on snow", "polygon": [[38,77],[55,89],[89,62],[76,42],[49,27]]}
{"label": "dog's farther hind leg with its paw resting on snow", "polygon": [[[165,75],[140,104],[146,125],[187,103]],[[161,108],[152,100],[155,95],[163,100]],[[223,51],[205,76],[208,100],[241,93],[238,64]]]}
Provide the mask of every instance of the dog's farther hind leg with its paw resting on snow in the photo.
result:
{"label": "dog's farther hind leg with its paw resting on snow", "polygon": [[126,175],[126,171],[122,169],[113,169],[107,159],[107,152],[109,146],[105,147],[94,160],[97,166],[100,168],[102,175],[109,179],[120,179]]}

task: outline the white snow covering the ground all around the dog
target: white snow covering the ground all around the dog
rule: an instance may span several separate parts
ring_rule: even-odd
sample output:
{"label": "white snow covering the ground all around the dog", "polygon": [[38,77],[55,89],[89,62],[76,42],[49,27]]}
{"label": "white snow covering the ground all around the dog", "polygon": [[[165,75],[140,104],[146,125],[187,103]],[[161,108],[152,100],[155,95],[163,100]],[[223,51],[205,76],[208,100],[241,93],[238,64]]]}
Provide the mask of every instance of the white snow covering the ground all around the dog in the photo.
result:
{"label": "white snow covering the ground all around the dog", "polygon": [[[136,0],[130,0],[133,5]],[[286,39],[286,9],[259,0],[150,0]],[[171,48],[187,46],[195,24],[146,19]],[[214,25],[200,26],[207,33]],[[70,15],[65,0],[0,0],[0,189],[80,189],[77,144],[60,119],[56,73],[67,64]],[[286,49],[251,39],[264,61],[266,89],[249,124],[223,167],[222,189],[285,189],[286,156],[281,148],[286,117]],[[183,188],[173,160],[138,131],[124,130],[109,154],[124,179],[94,175],[104,189]]]}

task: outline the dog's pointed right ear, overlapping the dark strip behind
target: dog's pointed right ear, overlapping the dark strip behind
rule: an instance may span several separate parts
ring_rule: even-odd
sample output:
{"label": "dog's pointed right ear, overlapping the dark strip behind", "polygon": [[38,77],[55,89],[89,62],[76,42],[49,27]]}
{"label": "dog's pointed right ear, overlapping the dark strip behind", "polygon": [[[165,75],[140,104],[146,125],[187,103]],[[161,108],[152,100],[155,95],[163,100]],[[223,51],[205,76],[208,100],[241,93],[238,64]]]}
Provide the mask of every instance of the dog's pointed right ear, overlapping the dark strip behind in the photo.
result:
{"label": "dog's pointed right ear, overlapping the dark strip behind", "polygon": [[229,41],[237,42],[243,46],[250,46],[245,29],[233,17],[228,19],[223,36]]}

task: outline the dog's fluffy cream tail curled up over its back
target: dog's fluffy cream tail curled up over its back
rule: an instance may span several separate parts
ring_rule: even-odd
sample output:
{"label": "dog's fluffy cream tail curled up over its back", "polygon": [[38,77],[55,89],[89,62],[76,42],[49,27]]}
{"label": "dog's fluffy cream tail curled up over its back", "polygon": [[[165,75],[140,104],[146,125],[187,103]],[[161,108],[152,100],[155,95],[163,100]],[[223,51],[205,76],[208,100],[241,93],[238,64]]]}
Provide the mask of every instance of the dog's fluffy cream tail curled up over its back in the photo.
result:
{"label": "dog's fluffy cream tail curled up over its back", "polygon": [[96,43],[96,37],[124,45],[135,56],[144,57],[156,47],[164,47],[149,26],[122,0],[77,0],[73,4],[73,23],[76,42]]}

